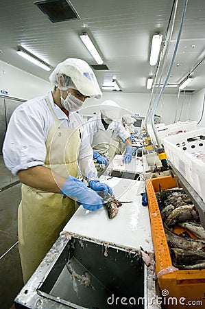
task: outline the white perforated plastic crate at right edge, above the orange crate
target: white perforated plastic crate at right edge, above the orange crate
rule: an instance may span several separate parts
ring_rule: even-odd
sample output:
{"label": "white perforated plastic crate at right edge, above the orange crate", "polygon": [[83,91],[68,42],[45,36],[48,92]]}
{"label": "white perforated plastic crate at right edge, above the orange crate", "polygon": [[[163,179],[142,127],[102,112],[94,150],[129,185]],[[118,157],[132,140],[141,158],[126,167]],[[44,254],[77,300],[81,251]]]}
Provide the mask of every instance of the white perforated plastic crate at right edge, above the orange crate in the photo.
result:
{"label": "white perforated plastic crate at right edge, above the orange crate", "polygon": [[[162,139],[167,159],[205,202],[205,128]],[[205,159],[204,159],[205,160]]]}

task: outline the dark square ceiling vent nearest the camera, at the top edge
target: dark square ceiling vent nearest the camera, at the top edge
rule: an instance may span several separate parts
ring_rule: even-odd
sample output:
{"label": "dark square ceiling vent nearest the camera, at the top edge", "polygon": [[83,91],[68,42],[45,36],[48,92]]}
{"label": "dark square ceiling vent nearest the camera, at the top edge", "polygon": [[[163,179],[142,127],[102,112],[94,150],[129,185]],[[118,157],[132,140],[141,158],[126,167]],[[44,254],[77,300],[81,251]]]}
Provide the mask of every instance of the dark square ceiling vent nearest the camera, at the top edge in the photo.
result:
{"label": "dark square ceiling vent nearest the camera, at the top edge", "polygon": [[80,19],[69,0],[45,0],[34,2],[34,4],[47,15],[52,23]]}

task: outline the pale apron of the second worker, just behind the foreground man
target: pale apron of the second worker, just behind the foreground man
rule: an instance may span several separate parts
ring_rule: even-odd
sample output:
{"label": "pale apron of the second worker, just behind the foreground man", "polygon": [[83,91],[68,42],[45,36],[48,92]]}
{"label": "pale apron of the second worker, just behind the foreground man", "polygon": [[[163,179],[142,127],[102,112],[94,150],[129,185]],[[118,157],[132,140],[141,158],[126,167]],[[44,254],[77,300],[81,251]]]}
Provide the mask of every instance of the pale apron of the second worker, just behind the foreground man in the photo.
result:
{"label": "pale apron of the second worker, just behind the foreground man", "polygon": [[[111,159],[109,157],[109,147],[110,147],[110,139],[112,137],[113,130],[98,130],[93,137],[92,148],[93,150],[99,152],[100,155],[106,157],[107,159]],[[97,170],[97,176],[101,176],[108,167],[108,165],[100,164],[95,161],[95,168]]]}

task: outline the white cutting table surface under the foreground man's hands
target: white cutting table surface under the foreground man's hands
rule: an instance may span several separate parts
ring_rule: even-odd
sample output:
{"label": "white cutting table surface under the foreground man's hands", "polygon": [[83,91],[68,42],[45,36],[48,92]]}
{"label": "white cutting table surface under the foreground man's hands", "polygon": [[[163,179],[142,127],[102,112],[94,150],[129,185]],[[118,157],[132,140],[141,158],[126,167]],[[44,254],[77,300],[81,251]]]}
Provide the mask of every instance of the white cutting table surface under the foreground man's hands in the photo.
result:
{"label": "white cutting table surface under the foreground man's hands", "polygon": [[114,196],[123,203],[117,216],[108,218],[105,207],[86,212],[80,206],[63,231],[76,233],[106,243],[154,252],[147,206],[141,205],[143,182],[112,177],[105,179],[112,187]]}

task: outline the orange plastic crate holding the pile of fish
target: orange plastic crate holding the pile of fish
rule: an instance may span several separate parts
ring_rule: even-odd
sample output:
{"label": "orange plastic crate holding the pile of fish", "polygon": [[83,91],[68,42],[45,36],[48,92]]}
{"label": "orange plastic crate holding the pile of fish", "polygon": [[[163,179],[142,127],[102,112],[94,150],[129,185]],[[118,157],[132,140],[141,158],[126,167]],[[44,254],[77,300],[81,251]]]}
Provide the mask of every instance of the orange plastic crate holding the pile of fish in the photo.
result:
{"label": "orange plastic crate holding the pile of fish", "polygon": [[[171,176],[146,181],[157,275],[172,263],[155,192],[172,187],[177,184]],[[162,295],[166,296],[162,299],[165,308],[205,308],[205,269],[167,273],[158,277],[158,284]]]}

